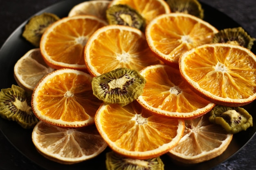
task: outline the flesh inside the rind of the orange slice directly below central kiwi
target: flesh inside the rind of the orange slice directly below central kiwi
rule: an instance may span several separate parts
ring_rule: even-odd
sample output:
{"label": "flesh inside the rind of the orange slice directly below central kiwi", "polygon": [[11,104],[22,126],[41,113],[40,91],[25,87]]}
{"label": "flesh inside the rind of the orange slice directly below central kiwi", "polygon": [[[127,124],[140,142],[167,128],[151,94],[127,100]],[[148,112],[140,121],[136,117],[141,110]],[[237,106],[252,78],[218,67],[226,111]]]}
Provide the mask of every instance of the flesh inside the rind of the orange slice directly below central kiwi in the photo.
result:
{"label": "flesh inside the rind of the orange slice directly below central kiwi", "polygon": [[141,152],[153,150],[171,142],[177,135],[178,120],[152,116],[142,110],[134,111],[130,105],[106,107],[101,114],[101,125],[119,148]]}

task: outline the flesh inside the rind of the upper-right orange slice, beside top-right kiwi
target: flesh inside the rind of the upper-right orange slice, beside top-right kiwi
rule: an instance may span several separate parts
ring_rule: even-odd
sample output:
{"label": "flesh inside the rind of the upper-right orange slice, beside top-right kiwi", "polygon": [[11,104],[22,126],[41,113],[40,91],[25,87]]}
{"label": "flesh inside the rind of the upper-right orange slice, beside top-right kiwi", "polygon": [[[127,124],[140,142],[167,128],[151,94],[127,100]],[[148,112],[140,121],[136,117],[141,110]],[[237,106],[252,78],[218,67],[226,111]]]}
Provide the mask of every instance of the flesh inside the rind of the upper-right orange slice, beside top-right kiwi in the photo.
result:
{"label": "flesh inside the rind of the upper-right orange slice, beside top-right kiwi", "polygon": [[213,38],[213,30],[208,26],[183,16],[159,19],[150,30],[155,48],[173,60],[178,60],[184,51],[210,43]]}

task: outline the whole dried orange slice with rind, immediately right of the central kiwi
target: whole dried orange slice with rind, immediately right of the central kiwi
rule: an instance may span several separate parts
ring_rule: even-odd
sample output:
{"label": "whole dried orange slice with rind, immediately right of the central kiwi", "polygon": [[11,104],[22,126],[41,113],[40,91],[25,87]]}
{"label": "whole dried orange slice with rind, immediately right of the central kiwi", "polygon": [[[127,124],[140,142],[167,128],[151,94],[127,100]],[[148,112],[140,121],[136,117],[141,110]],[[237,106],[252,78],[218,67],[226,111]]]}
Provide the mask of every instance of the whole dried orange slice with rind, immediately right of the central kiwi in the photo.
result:
{"label": "whole dried orange slice with rind, immediately right of the central kiwi", "polygon": [[140,73],[146,84],[137,101],[157,115],[191,119],[204,115],[215,106],[191,91],[177,68],[157,64],[147,66]]}

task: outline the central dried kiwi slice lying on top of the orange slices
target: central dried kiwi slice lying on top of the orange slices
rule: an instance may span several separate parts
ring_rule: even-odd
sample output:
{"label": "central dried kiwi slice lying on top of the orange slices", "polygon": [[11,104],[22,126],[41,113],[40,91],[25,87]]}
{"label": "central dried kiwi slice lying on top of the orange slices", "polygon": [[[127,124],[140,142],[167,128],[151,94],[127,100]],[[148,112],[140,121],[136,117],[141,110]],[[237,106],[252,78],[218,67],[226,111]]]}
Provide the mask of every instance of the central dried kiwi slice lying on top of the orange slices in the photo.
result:
{"label": "central dried kiwi slice lying on top of the orange slices", "polygon": [[125,106],[143,93],[146,79],[139,71],[116,68],[92,78],[93,94],[106,104]]}

